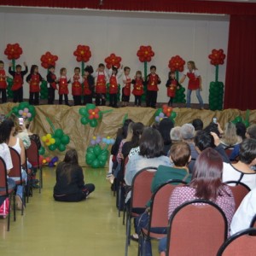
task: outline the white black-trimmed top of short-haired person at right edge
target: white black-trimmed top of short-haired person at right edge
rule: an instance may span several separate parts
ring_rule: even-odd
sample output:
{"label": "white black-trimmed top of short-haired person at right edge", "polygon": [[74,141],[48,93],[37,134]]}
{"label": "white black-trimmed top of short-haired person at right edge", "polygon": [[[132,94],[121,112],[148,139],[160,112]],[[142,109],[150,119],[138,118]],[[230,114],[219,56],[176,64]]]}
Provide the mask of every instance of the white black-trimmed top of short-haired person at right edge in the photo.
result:
{"label": "white black-trimmed top of short-haired person at right edge", "polygon": [[229,163],[223,163],[222,181],[227,182],[231,180],[236,180],[240,181],[241,183],[245,183],[250,189],[256,188],[256,172],[243,173],[236,170]]}

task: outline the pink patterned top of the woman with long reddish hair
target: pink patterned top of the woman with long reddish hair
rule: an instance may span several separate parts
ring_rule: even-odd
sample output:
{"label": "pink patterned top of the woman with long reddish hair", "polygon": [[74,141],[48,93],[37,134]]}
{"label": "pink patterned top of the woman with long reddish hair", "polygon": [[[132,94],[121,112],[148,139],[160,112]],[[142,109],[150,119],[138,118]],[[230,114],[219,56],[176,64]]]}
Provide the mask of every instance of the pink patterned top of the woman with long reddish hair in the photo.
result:
{"label": "pink patterned top of the woman with long reddish hair", "polygon": [[[218,207],[220,207],[223,210],[228,220],[228,230],[230,234],[230,223],[235,213],[235,201],[230,188],[228,186],[224,186],[224,188],[226,192],[231,196],[224,193],[224,195],[222,196],[218,195],[216,201],[213,201],[213,202],[216,203]],[[194,188],[183,186],[183,187],[177,187],[176,189],[173,189],[172,195],[169,201],[168,218],[170,218],[172,212],[177,207],[182,205],[185,201],[191,201],[194,199],[199,199],[198,197],[195,196]]]}

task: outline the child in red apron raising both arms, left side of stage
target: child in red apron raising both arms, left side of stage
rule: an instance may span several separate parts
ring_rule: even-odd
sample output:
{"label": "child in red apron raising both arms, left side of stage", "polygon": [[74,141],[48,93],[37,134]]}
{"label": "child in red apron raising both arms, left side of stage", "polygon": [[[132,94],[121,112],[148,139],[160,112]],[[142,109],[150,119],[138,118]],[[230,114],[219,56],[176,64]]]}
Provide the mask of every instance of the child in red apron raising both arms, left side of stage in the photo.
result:
{"label": "child in red apron raising both arms, left side of stage", "polygon": [[14,84],[12,85],[11,90],[14,91],[14,102],[23,102],[23,79],[26,75],[28,69],[26,62],[24,62],[25,71],[21,71],[21,66],[16,65],[16,71],[12,71],[12,63],[9,63],[9,73],[14,78]]}

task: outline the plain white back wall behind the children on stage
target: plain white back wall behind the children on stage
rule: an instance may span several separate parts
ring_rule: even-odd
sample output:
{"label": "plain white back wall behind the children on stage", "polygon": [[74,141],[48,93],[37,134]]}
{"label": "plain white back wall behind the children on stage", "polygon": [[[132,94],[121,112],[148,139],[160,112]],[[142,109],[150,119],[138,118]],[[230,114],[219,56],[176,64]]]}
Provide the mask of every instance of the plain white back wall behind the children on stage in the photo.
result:
{"label": "plain white back wall behind the children on stage", "polygon": [[[210,65],[208,55],[212,49],[227,52],[229,21],[218,20],[218,17],[212,19],[211,16],[209,19],[196,19],[195,15],[186,19],[182,15],[170,16],[170,19],[166,16],[149,17],[139,17],[139,14],[122,16],[121,13],[109,15],[108,12],[98,15],[0,12],[0,59],[8,64],[3,54],[6,45],[19,43],[23,55],[17,63],[26,61],[29,66],[37,64],[45,77],[46,70],[41,67],[40,57],[50,51],[59,56],[56,73],[61,67],[67,67],[68,75],[72,76],[73,68],[80,66],[73,51],[78,44],[86,44],[92,53],[90,65],[97,67],[108,55],[115,53],[122,57],[124,66],[131,67],[133,76],[137,70],[143,71],[137,49],[140,45],[151,45],[155,55],[148,66],[156,65],[162,79],[158,102],[167,101],[165,84],[168,62],[173,55],[180,55],[185,61],[195,61],[203,81],[201,94],[204,102],[208,102],[209,83],[214,80],[214,67]],[[225,64],[219,68],[220,81],[224,81],[224,74]],[[184,84],[187,85],[187,82]],[[72,99],[71,95],[69,99]],[[197,102],[194,94],[192,102]]]}

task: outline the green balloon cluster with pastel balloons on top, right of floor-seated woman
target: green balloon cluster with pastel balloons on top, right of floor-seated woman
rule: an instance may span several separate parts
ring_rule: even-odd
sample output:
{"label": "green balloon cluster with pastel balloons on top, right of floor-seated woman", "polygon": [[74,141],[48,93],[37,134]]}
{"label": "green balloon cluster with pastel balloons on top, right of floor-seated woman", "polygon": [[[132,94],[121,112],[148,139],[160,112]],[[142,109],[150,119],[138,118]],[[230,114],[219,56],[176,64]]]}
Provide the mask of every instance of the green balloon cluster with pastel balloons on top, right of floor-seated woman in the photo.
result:
{"label": "green balloon cluster with pastel balloons on top, right of floor-seated woman", "polygon": [[[105,147],[100,143],[105,143]],[[108,160],[108,145],[113,144],[114,140],[110,137],[94,136],[90,140],[90,147],[87,148],[85,154],[85,162],[92,168],[104,167]]]}

